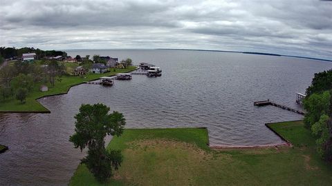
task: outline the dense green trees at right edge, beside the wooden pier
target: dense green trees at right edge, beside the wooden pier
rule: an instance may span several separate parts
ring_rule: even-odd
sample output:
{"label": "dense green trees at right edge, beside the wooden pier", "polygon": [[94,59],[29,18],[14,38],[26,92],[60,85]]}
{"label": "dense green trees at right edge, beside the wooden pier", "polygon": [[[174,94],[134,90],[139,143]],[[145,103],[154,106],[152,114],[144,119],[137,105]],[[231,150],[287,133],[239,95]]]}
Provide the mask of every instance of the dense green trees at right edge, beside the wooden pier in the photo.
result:
{"label": "dense green trees at right edge, beside the wooden pier", "polygon": [[315,74],[306,89],[305,126],[316,138],[317,152],[332,161],[332,70]]}

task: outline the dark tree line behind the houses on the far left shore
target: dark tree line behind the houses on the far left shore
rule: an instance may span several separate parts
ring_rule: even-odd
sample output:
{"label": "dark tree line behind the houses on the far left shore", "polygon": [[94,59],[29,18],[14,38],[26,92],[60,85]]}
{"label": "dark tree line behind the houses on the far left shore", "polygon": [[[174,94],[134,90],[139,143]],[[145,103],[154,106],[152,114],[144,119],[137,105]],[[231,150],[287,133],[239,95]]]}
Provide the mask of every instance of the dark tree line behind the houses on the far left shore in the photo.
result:
{"label": "dark tree line behind the houses on the far left shore", "polygon": [[[40,50],[39,48],[0,48],[0,56],[4,59],[15,59],[20,58],[22,54],[35,53],[37,59],[44,59],[46,56],[67,56],[66,52],[56,50]],[[1,61],[0,61],[1,62]]]}

